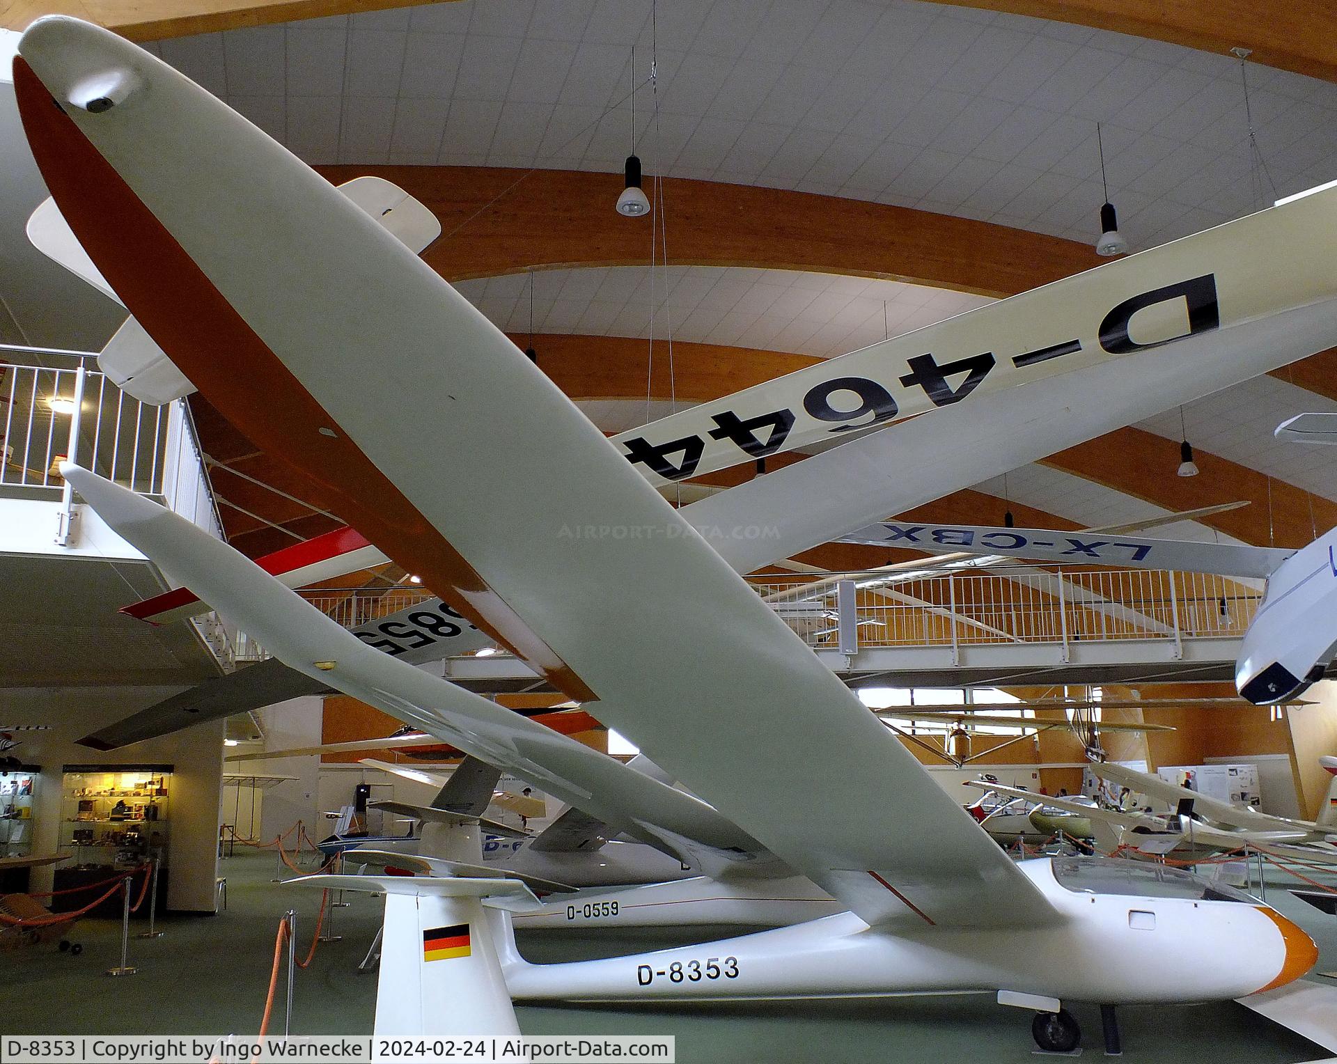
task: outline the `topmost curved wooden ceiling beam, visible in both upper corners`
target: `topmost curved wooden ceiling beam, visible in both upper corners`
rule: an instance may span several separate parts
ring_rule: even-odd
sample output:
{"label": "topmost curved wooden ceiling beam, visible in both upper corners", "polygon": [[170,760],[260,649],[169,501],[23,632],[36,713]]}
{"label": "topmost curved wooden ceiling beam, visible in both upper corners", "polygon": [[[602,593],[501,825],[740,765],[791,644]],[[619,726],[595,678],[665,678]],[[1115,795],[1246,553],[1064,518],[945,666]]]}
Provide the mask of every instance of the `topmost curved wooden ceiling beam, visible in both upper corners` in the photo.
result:
{"label": "topmost curved wooden ceiling beam, visible in both upper corners", "polygon": [[[1226,53],[1235,45],[1269,67],[1337,80],[1337,11],[1324,0],[945,0],[1114,29]],[[13,0],[0,25],[23,29],[39,15],[76,15],[130,40],[413,7],[417,0]]]}

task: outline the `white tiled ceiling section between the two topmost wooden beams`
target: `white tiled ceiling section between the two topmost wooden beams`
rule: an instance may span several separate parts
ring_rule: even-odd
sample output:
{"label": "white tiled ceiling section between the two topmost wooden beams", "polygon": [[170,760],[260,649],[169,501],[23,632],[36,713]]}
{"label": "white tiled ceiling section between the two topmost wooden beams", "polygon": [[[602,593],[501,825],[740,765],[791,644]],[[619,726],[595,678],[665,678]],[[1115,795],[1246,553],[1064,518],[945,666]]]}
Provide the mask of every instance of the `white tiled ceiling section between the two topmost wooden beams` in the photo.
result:
{"label": "white tiled ceiling section between the two topmost wooden beams", "polygon": [[[650,0],[459,0],[163,41],[160,53],[312,162],[619,170],[635,44],[650,174],[1090,241],[1099,120],[1135,249],[1258,206],[1230,56],[916,0],[679,0],[659,12],[651,88],[652,36]],[[1249,76],[1265,196],[1337,176],[1337,86]],[[444,123],[422,99],[448,103]]]}

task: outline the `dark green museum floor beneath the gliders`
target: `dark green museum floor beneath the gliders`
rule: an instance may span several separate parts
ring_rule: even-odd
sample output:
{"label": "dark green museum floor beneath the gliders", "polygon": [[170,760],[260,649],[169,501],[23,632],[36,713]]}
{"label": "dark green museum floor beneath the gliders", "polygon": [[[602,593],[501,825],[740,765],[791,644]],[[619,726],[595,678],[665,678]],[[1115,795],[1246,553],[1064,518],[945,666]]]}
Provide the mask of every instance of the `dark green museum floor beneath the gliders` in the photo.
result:
{"label": "dark green museum floor beneath the gliders", "polygon": [[[138,974],[112,980],[119,922],[86,921],[78,957],[39,946],[3,956],[0,1029],[5,1033],[254,1033],[265,1004],[274,930],[281,913],[298,910],[298,942],[310,942],[313,892],[269,882],[274,858],[246,853],[226,859],[230,906],[217,917],[170,917],[158,940],[130,940]],[[353,898],[336,910],[340,942],[324,944],[310,969],[297,973],[293,1033],[368,1033],[374,976],[357,974],[380,921],[380,900]],[[1337,918],[1280,889],[1269,901],[1320,944],[1321,970],[1337,969]],[[140,930],[132,925],[132,933]],[[721,930],[715,937],[731,932]],[[520,949],[535,961],[579,960],[656,948],[691,936],[529,932]],[[299,950],[299,956],[301,952]],[[279,990],[279,999],[282,989]],[[1086,1053],[1099,1057],[1094,1007],[1076,1007]],[[525,1033],[677,1035],[678,1060],[706,1061],[960,1061],[992,1064],[1034,1059],[1028,1013],[987,997],[872,1001],[739,1003],[682,1007],[523,1007]],[[1306,1061],[1325,1053],[1234,1003],[1120,1009],[1124,1057],[1143,1061]],[[282,1000],[275,1003],[282,1032]]]}

